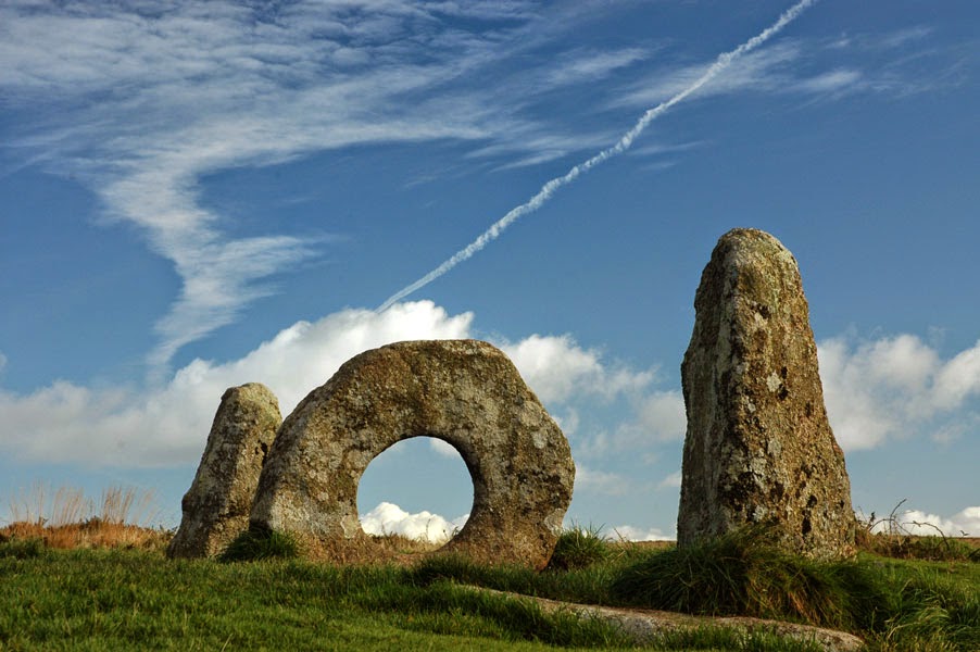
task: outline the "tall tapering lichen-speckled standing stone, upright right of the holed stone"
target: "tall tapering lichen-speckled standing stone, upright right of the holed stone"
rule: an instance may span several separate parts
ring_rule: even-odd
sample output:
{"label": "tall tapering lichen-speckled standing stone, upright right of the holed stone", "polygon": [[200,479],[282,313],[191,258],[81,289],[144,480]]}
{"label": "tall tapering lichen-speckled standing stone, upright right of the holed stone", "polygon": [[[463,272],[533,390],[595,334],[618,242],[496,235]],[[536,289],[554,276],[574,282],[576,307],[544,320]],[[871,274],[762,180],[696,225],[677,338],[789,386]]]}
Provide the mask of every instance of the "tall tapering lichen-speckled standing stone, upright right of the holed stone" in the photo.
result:
{"label": "tall tapering lichen-speckled standing stone, upright right of the holed stone", "polygon": [[731,230],[704,268],[694,309],[681,365],[678,544],[762,523],[790,551],[850,554],[851,484],[795,259],[764,231]]}

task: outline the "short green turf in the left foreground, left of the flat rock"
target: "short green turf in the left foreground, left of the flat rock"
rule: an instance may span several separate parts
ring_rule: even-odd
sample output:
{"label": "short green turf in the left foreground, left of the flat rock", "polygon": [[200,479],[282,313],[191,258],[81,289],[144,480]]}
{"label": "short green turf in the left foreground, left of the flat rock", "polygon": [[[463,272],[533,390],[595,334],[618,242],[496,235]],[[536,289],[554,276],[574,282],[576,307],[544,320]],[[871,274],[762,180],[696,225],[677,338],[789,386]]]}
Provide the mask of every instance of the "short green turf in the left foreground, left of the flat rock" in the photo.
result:
{"label": "short green turf in the left foreground, left of the flat rock", "polygon": [[[3,544],[9,546],[9,544]],[[607,627],[394,567],[166,561],[136,550],[0,557],[0,648],[543,649],[621,642]]]}

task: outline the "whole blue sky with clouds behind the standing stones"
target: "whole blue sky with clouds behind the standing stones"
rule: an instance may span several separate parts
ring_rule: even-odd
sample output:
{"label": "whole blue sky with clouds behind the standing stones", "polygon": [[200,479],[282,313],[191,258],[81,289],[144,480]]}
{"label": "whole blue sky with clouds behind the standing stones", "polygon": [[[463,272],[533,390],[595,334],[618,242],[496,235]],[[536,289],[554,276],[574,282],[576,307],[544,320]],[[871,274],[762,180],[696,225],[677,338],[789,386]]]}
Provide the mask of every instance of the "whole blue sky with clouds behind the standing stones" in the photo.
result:
{"label": "whole blue sky with clouds behind the standing stones", "polygon": [[[0,496],[133,485],[175,525],[226,387],[288,413],[364,349],[477,337],[571,442],[569,521],[670,537],[694,291],[747,226],[800,263],[854,504],[980,534],[976,2],[801,3],[384,313],[794,4],[257,7],[0,7]],[[414,440],[360,504],[470,500]]]}

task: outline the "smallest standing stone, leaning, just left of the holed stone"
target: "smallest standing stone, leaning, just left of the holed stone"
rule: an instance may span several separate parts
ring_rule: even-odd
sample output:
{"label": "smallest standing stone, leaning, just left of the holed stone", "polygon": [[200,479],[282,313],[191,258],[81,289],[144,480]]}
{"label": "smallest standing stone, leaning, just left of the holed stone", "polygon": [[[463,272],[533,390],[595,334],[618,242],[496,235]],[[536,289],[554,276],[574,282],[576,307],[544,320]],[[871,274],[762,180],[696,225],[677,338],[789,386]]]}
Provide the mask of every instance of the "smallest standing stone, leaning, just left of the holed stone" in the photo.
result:
{"label": "smallest standing stone, leaning, just left of the holed stone", "polygon": [[225,391],[167,556],[215,555],[248,529],[259,475],[281,423],[279,402],[264,385]]}

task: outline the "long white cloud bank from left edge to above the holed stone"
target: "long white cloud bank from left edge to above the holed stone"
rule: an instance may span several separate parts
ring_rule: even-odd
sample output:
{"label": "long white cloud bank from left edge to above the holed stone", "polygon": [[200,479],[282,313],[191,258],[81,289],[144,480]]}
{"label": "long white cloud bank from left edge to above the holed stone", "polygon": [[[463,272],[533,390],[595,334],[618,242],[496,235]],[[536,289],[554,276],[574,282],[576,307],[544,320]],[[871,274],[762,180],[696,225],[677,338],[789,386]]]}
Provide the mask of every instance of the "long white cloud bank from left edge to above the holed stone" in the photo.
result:
{"label": "long white cloud bank from left edge to above the holed stone", "polygon": [[259,381],[284,416],[355,354],[392,341],[468,336],[470,313],[450,316],[431,302],[377,314],[344,310],[298,322],[243,358],[194,360],[164,387],[90,389],[58,381],[28,396],[0,391],[8,435],[0,448],[17,459],[105,466],[196,463],[228,387]]}

